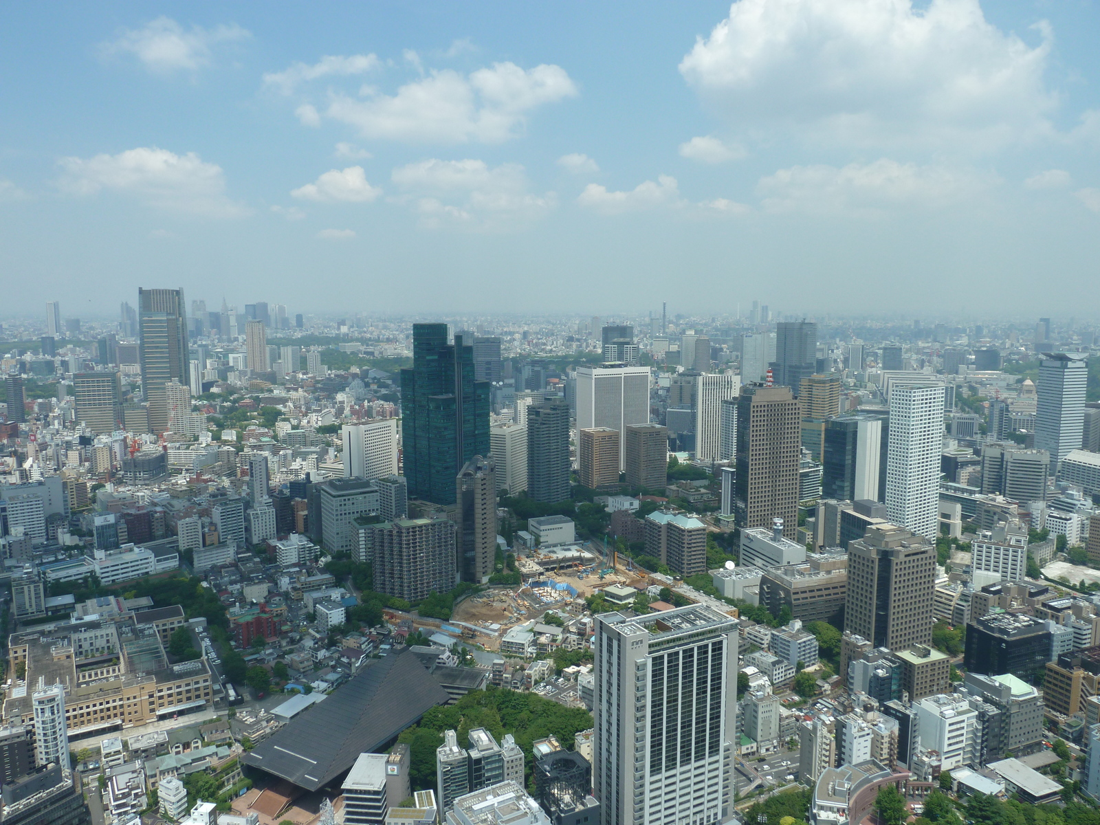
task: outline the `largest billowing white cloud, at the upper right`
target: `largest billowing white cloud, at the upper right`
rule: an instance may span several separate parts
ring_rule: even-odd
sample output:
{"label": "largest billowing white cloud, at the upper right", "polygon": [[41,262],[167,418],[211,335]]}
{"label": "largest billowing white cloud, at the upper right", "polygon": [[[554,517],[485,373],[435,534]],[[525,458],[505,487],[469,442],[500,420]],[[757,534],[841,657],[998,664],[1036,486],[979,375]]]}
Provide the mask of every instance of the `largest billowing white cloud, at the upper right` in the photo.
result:
{"label": "largest billowing white cloud, at the upper right", "polygon": [[749,134],[982,151],[1052,132],[1052,35],[1034,29],[1031,47],[978,0],[739,0],[680,72]]}

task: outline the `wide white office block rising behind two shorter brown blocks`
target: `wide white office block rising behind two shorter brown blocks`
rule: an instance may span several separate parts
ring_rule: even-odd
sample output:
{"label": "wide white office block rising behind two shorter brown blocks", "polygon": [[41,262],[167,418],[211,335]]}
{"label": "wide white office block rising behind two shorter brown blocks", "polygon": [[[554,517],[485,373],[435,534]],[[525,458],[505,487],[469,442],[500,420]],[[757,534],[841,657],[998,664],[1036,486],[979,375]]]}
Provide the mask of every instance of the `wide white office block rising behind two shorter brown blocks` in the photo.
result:
{"label": "wide white office block rising behind two shorter brown blocks", "polygon": [[[612,427],[649,422],[649,367],[603,364],[576,369],[576,427]],[[625,449],[625,439],[620,444]],[[625,454],[619,469],[625,469]]]}

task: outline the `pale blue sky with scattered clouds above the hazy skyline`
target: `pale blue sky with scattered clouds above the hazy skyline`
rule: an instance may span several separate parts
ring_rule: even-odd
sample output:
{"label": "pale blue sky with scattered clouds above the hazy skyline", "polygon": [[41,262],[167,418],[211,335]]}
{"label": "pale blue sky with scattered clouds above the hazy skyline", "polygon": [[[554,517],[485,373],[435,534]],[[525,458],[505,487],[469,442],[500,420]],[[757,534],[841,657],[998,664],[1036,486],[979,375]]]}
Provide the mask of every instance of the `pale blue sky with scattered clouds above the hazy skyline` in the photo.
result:
{"label": "pale blue sky with scattered clouds above the hazy skyline", "polygon": [[1100,316],[1100,0],[0,4],[0,315]]}

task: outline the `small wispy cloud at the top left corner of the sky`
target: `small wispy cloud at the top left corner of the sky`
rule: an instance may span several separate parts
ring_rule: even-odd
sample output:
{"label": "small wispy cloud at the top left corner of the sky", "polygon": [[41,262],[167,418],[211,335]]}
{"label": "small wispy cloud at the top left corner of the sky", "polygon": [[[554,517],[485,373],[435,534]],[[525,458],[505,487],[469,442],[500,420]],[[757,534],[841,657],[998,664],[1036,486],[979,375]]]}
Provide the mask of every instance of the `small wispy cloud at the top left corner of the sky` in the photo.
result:
{"label": "small wispy cloud at the top left corner of the sky", "polygon": [[160,74],[196,72],[213,59],[211,46],[248,40],[252,33],[235,23],[204,29],[184,29],[172,18],[160,16],[143,29],[125,29],[119,37],[101,43],[106,55],[134,55],[145,68]]}

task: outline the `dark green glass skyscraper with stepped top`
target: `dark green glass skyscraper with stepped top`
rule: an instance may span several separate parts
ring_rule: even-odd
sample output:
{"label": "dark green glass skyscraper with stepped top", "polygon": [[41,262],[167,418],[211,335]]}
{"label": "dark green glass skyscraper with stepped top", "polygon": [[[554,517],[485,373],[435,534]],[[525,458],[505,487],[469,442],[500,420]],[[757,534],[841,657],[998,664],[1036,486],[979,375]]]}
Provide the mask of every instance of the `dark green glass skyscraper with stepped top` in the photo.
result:
{"label": "dark green glass skyscraper with stepped top", "polygon": [[454,504],[463,465],[490,454],[490,383],[474,380],[472,344],[447,343],[446,323],[413,324],[413,367],[402,370],[409,498]]}

